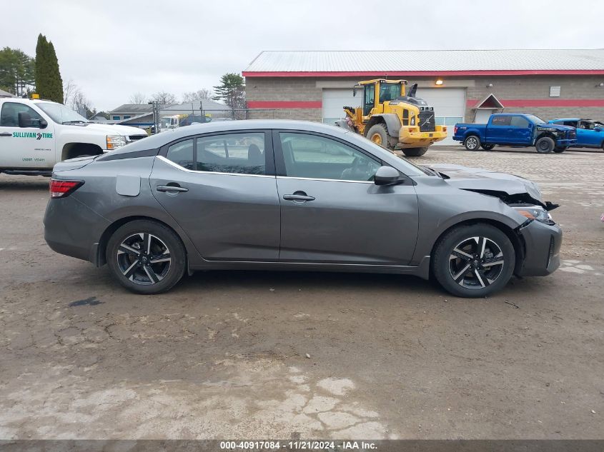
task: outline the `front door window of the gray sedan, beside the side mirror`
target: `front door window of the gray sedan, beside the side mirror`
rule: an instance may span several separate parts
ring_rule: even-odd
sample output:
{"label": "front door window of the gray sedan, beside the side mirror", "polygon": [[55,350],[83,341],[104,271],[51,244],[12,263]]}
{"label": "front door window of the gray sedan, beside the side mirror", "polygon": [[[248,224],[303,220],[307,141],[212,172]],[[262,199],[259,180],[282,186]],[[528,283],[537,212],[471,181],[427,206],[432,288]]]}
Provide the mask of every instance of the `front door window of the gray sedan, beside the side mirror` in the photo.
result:
{"label": "front door window of the gray sedan, beside the side mirror", "polygon": [[325,136],[281,132],[279,137],[289,177],[373,181],[381,166],[367,154]]}

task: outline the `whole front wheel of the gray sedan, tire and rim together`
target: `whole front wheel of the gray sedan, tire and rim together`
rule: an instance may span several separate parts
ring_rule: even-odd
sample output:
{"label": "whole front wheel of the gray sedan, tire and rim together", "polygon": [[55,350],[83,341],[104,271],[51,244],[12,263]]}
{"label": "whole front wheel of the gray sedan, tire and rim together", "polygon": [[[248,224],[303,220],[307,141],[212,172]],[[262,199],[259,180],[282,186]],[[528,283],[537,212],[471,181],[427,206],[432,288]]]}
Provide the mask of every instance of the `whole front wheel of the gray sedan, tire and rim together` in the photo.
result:
{"label": "whole front wheel of the gray sedan, tire and rim together", "polygon": [[510,238],[495,226],[454,226],[435,246],[432,272],[455,296],[484,297],[510,281],[515,257]]}

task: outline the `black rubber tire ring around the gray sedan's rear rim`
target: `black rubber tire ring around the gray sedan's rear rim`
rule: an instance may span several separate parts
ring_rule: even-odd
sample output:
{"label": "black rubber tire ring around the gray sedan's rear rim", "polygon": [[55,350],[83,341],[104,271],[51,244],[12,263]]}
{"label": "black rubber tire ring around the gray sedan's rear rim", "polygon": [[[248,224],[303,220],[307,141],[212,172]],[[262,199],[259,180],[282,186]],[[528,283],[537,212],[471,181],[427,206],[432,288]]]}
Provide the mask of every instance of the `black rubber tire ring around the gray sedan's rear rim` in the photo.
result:
{"label": "black rubber tire ring around the gray sedan's rear rim", "polygon": [[[168,274],[162,281],[150,286],[143,286],[129,281],[129,279],[122,274],[122,271],[119,270],[117,259],[115,258],[115,256],[117,256],[117,248],[122,241],[132,234],[139,232],[152,233],[154,236],[160,238],[168,246],[170,257],[172,258]],[[174,284],[181,280],[184,275],[184,270],[187,267],[187,253],[179,236],[167,226],[152,220],[135,220],[119,227],[117,231],[112,234],[111,238],[109,238],[106,253],[107,265],[109,266],[114,279],[122,286],[129,289],[129,291],[135,293],[152,294],[168,291]]]}

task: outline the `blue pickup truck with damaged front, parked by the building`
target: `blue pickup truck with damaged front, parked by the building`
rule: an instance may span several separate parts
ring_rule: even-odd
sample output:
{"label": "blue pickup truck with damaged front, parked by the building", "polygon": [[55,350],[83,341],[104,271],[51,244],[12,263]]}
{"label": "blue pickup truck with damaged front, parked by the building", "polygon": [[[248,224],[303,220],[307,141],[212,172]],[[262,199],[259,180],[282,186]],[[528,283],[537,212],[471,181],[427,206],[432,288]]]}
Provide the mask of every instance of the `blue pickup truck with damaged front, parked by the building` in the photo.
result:
{"label": "blue pickup truck with damaged front, parked by the building", "polygon": [[492,114],[487,124],[455,124],[455,141],[468,151],[482,147],[490,151],[496,144],[514,147],[535,146],[537,152],[563,152],[577,142],[574,127],[548,124],[532,114]]}

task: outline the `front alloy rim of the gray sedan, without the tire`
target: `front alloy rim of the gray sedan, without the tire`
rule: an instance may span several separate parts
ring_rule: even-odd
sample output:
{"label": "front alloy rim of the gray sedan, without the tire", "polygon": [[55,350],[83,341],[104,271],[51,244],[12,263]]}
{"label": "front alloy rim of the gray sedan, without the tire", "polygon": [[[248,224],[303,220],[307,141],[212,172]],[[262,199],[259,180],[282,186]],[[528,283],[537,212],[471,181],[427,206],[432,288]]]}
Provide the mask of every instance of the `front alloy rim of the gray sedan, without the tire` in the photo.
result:
{"label": "front alloy rim of the gray sedan, without the tire", "polygon": [[500,246],[486,237],[470,237],[457,243],[449,256],[453,280],[465,288],[485,288],[494,283],[503,270]]}

